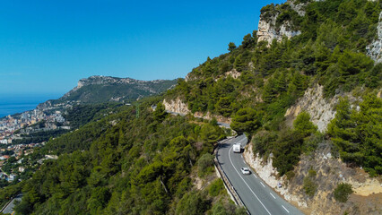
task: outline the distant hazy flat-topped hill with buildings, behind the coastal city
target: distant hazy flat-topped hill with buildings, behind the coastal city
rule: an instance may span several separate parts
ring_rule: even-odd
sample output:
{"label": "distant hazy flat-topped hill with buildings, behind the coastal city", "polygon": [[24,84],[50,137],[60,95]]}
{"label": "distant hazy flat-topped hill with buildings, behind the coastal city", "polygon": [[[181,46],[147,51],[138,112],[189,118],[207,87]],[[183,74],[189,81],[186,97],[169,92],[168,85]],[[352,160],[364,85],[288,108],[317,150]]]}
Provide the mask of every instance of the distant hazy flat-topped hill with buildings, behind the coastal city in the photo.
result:
{"label": "distant hazy flat-topped hill with buildings, behind the coastal city", "polygon": [[74,101],[82,104],[103,103],[109,101],[130,102],[146,96],[169,90],[177,80],[140,81],[131,78],[109,76],[91,76],[78,81],[77,86],[60,99],[48,100],[39,107]]}

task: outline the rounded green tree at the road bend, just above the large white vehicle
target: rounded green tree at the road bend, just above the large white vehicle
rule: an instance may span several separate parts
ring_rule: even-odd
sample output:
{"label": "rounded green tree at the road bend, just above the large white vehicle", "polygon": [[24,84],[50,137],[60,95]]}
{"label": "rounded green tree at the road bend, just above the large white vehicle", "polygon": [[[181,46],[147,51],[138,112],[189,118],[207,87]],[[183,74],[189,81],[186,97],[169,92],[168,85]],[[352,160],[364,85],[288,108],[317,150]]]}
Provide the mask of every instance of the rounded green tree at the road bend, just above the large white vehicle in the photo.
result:
{"label": "rounded green tree at the road bend, just above the large white vehicle", "polygon": [[261,125],[261,117],[255,109],[245,107],[239,109],[232,119],[230,127],[237,133],[252,133]]}

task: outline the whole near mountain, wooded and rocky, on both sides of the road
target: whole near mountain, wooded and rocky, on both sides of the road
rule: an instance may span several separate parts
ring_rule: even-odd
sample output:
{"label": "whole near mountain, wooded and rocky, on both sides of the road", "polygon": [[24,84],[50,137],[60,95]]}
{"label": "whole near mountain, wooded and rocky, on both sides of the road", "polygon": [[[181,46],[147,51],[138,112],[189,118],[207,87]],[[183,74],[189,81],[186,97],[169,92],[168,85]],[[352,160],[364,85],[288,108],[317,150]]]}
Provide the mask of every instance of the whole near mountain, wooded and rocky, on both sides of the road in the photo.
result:
{"label": "whole near mountain, wooded and rocky, on both sides of the road", "polygon": [[1,201],[22,191],[19,214],[246,214],[213,166],[217,142],[246,133],[247,164],[300,211],[380,214],[382,64],[368,48],[381,6],[265,6],[259,30],[174,88],[47,142],[23,162],[58,159],[1,190]]}

